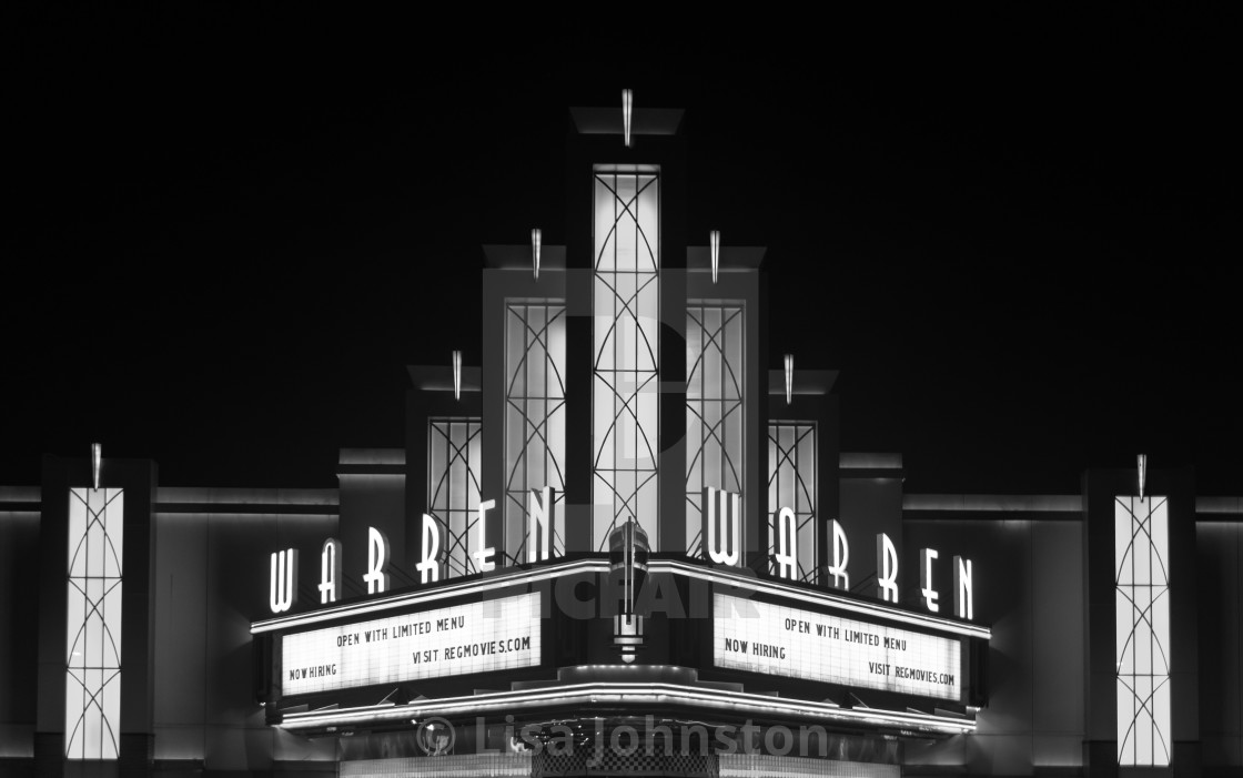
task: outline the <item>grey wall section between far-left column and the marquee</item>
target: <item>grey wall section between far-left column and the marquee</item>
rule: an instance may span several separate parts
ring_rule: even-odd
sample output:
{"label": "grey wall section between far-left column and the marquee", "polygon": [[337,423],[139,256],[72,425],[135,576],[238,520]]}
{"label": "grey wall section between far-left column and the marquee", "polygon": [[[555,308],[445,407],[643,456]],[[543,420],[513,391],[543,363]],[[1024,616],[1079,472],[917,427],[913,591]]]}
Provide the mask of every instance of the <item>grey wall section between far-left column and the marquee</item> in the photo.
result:
{"label": "grey wall section between far-left column and the marquee", "polygon": [[319,548],[337,531],[334,512],[288,515],[264,506],[281,500],[271,490],[254,513],[157,512],[157,764],[266,771],[285,761],[336,758],[334,741],[268,727],[256,701],[250,623],[270,614],[270,554],[297,548],[298,599],[318,603]]}

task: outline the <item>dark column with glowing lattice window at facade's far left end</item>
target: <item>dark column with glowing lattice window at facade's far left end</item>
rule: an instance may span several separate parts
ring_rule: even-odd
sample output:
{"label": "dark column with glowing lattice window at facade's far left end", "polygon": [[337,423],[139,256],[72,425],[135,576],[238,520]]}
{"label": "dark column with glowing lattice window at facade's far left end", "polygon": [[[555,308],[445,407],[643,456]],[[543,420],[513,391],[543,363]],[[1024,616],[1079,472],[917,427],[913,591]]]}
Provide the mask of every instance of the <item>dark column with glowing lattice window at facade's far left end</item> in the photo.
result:
{"label": "dark column with glowing lattice window at facade's far left end", "polygon": [[[116,774],[154,747],[155,474],[150,460],[44,457],[37,573],[10,593],[37,597],[37,624],[2,636],[39,646],[31,774]],[[267,553],[257,562],[262,587]],[[256,594],[266,610],[267,592]]]}

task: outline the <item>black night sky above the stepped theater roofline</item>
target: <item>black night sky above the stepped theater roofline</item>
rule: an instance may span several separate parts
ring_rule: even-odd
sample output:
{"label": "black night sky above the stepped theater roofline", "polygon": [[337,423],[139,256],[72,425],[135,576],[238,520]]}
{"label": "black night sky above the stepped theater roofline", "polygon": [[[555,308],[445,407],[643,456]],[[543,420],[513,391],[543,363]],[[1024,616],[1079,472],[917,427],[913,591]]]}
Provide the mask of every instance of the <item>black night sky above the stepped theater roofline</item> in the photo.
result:
{"label": "black night sky above the stepped theater roofline", "polygon": [[687,111],[687,232],[768,247],[768,367],[842,370],[844,450],[1243,493],[1233,17],[108,5],[5,11],[0,485],[94,440],[168,486],[404,445],[405,365],[479,364],[480,246],[561,242],[567,109],[630,87]]}

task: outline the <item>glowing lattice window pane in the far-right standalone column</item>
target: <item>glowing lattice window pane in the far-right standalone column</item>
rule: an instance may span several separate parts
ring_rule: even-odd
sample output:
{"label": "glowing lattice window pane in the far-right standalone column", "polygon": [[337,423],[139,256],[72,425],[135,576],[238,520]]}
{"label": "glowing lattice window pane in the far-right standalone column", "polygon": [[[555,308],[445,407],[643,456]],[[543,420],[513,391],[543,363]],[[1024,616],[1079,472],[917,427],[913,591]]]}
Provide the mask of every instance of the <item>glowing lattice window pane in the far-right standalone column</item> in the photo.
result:
{"label": "glowing lattice window pane in the far-right standalone column", "polygon": [[1170,521],[1165,497],[1114,501],[1117,763],[1170,764]]}

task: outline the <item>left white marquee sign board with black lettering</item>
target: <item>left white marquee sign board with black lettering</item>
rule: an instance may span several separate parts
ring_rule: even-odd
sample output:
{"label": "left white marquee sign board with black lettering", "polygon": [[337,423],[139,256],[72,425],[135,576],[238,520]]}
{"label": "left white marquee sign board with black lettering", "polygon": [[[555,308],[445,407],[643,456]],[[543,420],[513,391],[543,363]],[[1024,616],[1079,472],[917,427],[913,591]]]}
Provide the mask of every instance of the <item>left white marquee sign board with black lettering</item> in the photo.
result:
{"label": "left white marquee sign board with black lettering", "polygon": [[281,692],[305,695],[539,664],[539,595],[382,616],[281,639]]}

